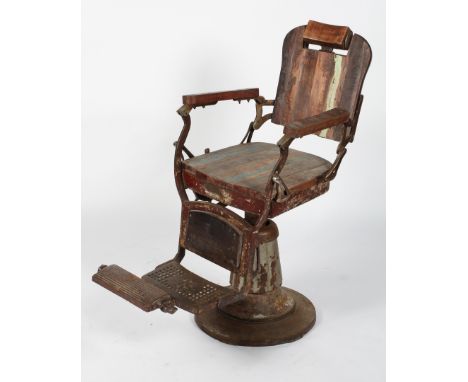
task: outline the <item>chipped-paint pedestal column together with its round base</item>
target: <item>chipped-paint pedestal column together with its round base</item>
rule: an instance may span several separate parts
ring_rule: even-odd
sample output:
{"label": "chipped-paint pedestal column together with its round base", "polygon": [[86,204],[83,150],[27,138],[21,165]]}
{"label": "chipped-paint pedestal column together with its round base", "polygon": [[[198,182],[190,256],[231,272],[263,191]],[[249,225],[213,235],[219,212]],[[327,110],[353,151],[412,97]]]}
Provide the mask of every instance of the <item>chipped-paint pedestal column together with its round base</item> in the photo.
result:
{"label": "chipped-paint pedestal column together with its round base", "polygon": [[[246,220],[249,220],[246,216]],[[315,308],[308,298],[283,287],[278,251],[278,228],[268,220],[255,239],[249,289],[244,276],[231,272],[231,287],[238,293],[220,297],[195,314],[205,333],[220,341],[243,346],[269,346],[295,341],[315,323]]]}

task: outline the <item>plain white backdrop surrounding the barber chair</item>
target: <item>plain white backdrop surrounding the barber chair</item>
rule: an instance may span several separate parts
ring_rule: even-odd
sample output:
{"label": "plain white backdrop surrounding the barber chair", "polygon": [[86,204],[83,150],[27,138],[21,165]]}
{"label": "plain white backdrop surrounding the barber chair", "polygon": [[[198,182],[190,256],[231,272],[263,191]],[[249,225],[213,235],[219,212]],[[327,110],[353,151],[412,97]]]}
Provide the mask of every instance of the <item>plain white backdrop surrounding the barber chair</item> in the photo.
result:
{"label": "plain white backdrop surrounding the barber chair", "polygon": [[[259,87],[274,98],[286,33],[309,19],[349,25],[373,49],[354,143],[324,196],[275,219],[284,284],[309,297],[302,340],[242,348],[192,316],[144,313],[91,282],[100,264],[141,275],[177,249],[172,143],[182,94]],[[192,112],[194,153],[238,143],[253,103]],[[254,140],[276,142],[267,123]],[[293,147],[334,158],[318,137]],[[383,381],[385,374],[384,1],[83,2],[83,380]],[[187,256],[219,283],[226,271]]]}

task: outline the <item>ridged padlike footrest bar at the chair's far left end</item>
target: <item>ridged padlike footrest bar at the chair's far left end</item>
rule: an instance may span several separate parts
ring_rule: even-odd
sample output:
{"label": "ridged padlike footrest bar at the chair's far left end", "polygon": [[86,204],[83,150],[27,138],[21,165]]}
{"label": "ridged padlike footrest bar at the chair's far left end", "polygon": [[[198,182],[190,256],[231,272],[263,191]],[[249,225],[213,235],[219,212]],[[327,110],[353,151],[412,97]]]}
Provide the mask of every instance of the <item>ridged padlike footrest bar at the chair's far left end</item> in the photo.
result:
{"label": "ridged padlike footrest bar at the chair's far left end", "polygon": [[161,309],[174,313],[177,310],[169,294],[118,265],[102,265],[93,275],[93,281],[145,312]]}

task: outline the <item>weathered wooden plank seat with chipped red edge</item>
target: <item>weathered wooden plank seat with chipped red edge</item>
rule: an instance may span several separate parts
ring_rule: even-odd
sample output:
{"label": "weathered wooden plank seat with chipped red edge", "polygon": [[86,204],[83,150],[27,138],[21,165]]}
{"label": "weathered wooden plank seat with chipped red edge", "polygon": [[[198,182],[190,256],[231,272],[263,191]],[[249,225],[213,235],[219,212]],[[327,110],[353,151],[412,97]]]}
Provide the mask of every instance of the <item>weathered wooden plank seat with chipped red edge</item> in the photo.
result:
{"label": "weathered wooden plank seat with chipped red edge", "polygon": [[[277,145],[254,142],[227,147],[184,161],[186,188],[205,197],[259,214],[265,203],[268,177],[279,158]],[[270,216],[279,215],[326,192],[318,177],[331,167],[326,159],[289,150],[281,178],[291,195],[275,202]]]}

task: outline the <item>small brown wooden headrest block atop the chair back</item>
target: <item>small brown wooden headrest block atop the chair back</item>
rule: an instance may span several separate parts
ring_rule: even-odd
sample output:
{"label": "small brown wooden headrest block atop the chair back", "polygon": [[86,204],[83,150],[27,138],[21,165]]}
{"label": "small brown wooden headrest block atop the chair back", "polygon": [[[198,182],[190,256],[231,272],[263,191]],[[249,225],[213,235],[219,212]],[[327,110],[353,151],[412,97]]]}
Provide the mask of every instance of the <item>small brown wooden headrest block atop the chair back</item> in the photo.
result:
{"label": "small brown wooden headrest block atop the chair back", "polygon": [[329,25],[310,20],[303,36],[306,43],[348,49],[353,32],[346,26]]}

